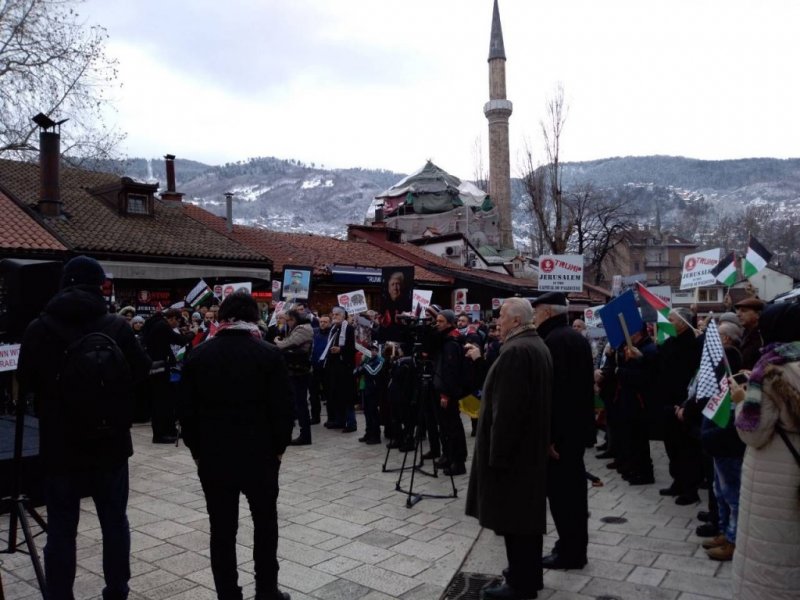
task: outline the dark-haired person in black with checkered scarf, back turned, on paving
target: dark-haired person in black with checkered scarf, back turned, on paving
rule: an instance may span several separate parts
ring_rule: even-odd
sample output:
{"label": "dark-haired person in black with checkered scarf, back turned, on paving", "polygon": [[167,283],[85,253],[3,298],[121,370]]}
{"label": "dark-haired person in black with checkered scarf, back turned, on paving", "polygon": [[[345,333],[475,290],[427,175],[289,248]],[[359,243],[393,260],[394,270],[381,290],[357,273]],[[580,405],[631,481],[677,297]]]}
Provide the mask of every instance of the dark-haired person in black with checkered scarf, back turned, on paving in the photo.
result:
{"label": "dark-haired person in black with checkered scarf, back turned, on paving", "polygon": [[197,463],[211,524],[211,571],[221,599],[241,600],[236,567],[239,494],[255,528],[256,598],[288,600],[278,590],[278,471],[292,435],[286,364],[261,339],[258,305],[228,296],[216,335],[184,363],[179,417]]}

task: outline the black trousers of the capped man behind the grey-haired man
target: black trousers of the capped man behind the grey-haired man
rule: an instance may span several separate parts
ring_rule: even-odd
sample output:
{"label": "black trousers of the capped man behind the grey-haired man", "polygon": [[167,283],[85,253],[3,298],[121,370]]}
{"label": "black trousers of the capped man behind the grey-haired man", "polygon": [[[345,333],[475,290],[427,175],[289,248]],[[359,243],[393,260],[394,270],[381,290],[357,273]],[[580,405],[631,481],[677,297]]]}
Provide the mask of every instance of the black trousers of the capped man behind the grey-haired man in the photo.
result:
{"label": "black trousers of the capped man behind the grey-haired man", "polygon": [[558,532],[553,551],[570,562],[585,562],[589,544],[589,498],[583,449],[562,452],[547,463],[547,500]]}

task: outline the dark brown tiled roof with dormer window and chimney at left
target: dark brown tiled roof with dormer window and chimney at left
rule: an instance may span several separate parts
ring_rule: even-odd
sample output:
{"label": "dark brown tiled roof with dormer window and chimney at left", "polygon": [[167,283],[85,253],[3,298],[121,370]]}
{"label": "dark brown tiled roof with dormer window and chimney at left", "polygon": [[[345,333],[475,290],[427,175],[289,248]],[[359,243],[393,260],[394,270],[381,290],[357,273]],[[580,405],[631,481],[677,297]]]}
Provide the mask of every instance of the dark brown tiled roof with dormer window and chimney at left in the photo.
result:
{"label": "dark brown tiled roof with dormer window and chimney at left", "polygon": [[[155,200],[153,216],[121,215],[87,190],[119,184],[113,174],[61,169],[62,217],[44,222],[70,250],[93,254],[143,255],[187,260],[264,262],[265,257],[187,218],[186,206]],[[39,200],[39,165],[0,160],[0,185],[21,202]]]}

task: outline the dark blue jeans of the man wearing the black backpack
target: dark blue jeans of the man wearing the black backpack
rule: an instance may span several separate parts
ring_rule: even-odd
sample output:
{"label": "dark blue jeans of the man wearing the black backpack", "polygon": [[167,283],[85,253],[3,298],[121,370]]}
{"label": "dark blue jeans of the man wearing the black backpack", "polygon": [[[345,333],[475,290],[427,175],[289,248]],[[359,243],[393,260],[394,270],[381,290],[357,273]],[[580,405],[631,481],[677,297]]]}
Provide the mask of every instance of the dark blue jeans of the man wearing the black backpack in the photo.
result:
{"label": "dark blue jeans of the man wearing the black backpack", "polygon": [[45,477],[47,544],[44,547],[48,600],[73,600],[75,537],[81,492],[94,500],[103,530],[104,600],[125,600],[131,578],[131,533],[128,505],[128,462],[104,469]]}

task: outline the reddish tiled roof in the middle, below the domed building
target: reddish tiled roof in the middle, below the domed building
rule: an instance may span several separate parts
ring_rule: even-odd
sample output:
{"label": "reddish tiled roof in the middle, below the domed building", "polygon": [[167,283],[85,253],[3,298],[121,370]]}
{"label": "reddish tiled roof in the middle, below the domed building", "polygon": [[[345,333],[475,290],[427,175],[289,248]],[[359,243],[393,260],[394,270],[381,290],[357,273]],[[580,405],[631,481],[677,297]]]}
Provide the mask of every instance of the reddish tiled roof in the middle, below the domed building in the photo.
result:
{"label": "reddish tiled roof in the middle, below the domed building", "polygon": [[414,279],[417,281],[452,283],[451,277],[429,271],[368,242],[339,240],[306,233],[285,233],[245,225],[234,225],[233,232],[227,233],[222,217],[192,205],[187,205],[186,211],[204,225],[268,256],[272,259],[275,271],[282,271],[284,265],[309,265],[314,267],[315,275],[326,275],[329,267],[335,264],[373,268],[409,265],[415,267]]}

